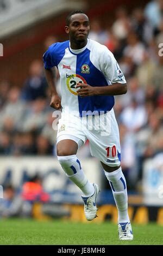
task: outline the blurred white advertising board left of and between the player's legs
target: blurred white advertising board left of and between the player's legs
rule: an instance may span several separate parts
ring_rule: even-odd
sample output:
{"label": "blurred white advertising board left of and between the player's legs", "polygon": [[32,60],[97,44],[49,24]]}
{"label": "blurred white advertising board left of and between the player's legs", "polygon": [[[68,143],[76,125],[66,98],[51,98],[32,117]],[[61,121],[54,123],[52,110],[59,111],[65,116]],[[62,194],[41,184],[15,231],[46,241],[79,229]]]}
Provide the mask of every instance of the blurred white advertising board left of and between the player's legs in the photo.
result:
{"label": "blurred white advertising board left of and between the player's legs", "polygon": [[[101,165],[96,158],[80,161],[90,182],[101,186]],[[21,188],[27,177],[39,173],[43,177],[44,189],[51,193],[54,190],[65,190],[79,193],[79,188],[65,175],[58,160],[53,157],[0,157],[0,185],[11,183]]]}

